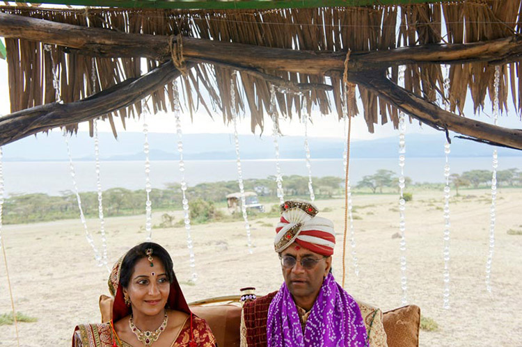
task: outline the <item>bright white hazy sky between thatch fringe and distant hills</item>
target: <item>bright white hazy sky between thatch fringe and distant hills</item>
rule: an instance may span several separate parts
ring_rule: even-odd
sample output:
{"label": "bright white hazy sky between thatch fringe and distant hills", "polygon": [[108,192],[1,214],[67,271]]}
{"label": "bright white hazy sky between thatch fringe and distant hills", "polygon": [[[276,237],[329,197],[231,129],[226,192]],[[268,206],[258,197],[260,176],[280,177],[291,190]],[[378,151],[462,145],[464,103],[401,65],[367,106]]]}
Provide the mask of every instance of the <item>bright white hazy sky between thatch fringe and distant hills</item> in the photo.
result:
{"label": "bright white hazy sky between thatch fringe and distant hills", "polygon": [[[9,96],[8,96],[8,73],[7,73],[6,60],[0,60],[0,115],[8,114],[10,112]],[[473,109],[470,108],[471,100],[469,99],[466,105],[469,109],[465,109],[467,116],[473,113]],[[359,107],[362,110],[362,106]],[[487,110],[491,110],[491,106],[487,106]],[[327,116],[319,116],[316,111],[313,114],[313,125],[308,127],[309,136],[317,137],[333,137],[342,138],[344,137],[344,128],[342,122],[338,122],[337,115],[331,114]],[[483,122],[491,122],[488,115],[479,115],[477,119]],[[233,131],[232,124],[227,126],[223,124],[221,114],[214,116],[214,121],[209,118],[206,111],[199,111],[198,114],[194,115],[194,121],[190,121],[189,115],[182,115],[183,120],[183,132],[185,134],[198,134],[198,133],[231,133]],[[123,127],[119,119],[115,120],[118,131],[123,131]],[[147,120],[149,131],[158,133],[175,133],[175,122],[174,117],[171,113],[169,114],[157,114],[149,116]],[[143,120],[126,120],[127,131],[142,131]],[[509,118],[502,117],[499,120],[499,125],[505,127],[516,127],[521,128],[522,124],[519,117],[516,114],[509,114]],[[81,124],[81,131],[87,131],[88,125]],[[101,122],[98,126],[99,131],[111,131],[109,122]],[[268,118],[265,118],[264,136],[271,135],[272,122]],[[302,135],[304,132],[303,124],[299,123],[299,120],[280,120],[280,129],[284,135]],[[239,134],[251,134],[250,120],[242,118],[238,126]],[[406,131],[408,133],[421,133],[421,134],[434,134],[436,131],[430,127],[418,125],[417,121],[413,124],[408,124]],[[257,129],[256,134],[260,134],[260,129]],[[372,138],[383,138],[394,136],[397,131],[393,129],[390,123],[385,126],[376,125],[374,134],[370,134],[367,131],[367,127],[362,115],[358,115],[352,121],[352,133],[351,138],[354,140],[364,140]]]}

